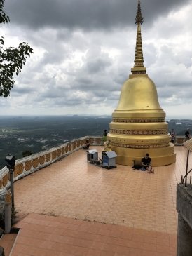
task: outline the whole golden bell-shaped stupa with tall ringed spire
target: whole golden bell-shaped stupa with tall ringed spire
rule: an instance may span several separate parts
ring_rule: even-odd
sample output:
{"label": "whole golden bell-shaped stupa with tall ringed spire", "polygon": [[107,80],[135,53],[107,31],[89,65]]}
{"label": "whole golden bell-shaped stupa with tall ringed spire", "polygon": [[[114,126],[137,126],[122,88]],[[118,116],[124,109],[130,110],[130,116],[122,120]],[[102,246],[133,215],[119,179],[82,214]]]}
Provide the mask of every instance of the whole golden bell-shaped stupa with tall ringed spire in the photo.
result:
{"label": "whole golden bell-shaped stupa with tall ringed spire", "polygon": [[165,112],[158,102],[156,85],[146,74],[144,67],[142,22],[142,11],[138,1],[135,18],[135,65],[121,89],[120,100],[112,114],[107,138],[111,140],[111,149],[118,155],[118,164],[132,166],[134,160],[141,161],[142,157],[149,153],[153,166],[165,166],[176,161],[176,154],[174,144],[170,143]]}

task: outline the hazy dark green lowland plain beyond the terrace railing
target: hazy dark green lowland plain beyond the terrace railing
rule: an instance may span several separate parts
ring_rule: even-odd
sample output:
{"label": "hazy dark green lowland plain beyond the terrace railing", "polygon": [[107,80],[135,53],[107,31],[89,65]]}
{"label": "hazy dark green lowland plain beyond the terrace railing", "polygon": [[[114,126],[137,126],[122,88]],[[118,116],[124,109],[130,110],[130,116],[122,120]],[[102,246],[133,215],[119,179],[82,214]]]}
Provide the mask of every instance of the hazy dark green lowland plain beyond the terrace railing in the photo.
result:
{"label": "hazy dark green lowland plain beyond the terrace railing", "polygon": [[[22,158],[22,152],[32,154],[58,146],[83,136],[102,136],[109,130],[110,117],[98,116],[0,116],[0,169],[6,166],[7,154]],[[192,131],[192,120],[169,119],[169,130],[184,135]]]}

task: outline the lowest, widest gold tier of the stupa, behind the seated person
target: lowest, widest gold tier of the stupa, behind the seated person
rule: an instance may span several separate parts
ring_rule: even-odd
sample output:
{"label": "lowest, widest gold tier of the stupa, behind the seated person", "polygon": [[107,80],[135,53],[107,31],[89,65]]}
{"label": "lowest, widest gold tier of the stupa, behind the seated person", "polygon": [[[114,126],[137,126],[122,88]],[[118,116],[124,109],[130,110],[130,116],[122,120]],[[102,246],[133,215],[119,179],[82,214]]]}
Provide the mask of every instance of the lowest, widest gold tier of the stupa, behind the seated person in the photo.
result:
{"label": "lowest, widest gold tier of the stupa, behind the seated person", "polygon": [[158,149],[128,149],[122,147],[113,147],[118,157],[116,163],[123,166],[133,166],[134,161],[139,163],[146,153],[151,157],[151,166],[167,166],[176,161],[174,153],[174,144],[169,147]]}

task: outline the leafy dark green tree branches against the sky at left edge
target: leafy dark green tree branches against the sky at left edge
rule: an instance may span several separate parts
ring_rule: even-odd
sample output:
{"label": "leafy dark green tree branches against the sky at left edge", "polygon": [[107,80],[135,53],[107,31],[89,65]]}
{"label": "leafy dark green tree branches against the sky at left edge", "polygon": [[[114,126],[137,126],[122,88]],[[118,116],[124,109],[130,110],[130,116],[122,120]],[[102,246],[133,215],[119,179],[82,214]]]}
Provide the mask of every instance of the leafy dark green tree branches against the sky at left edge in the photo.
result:
{"label": "leafy dark green tree branches against the sky at left edge", "polygon": [[[9,17],[4,12],[4,0],[0,0],[0,23],[9,22]],[[4,46],[4,37],[0,37],[0,96],[8,97],[15,83],[13,75],[20,74],[27,57],[33,53],[33,49],[25,42],[17,48]]]}

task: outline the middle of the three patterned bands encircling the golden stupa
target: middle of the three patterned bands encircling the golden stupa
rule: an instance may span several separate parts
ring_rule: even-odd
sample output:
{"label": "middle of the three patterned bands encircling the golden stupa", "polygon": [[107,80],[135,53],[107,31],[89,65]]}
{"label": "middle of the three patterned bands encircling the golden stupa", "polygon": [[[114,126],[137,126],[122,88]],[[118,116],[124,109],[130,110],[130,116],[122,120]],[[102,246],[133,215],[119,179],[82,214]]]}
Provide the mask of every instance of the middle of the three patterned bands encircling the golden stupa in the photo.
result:
{"label": "middle of the three patterned bands encircling the golden stupa", "polygon": [[115,130],[111,129],[110,133],[127,134],[127,135],[161,135],[167,134],[167,130]]}

